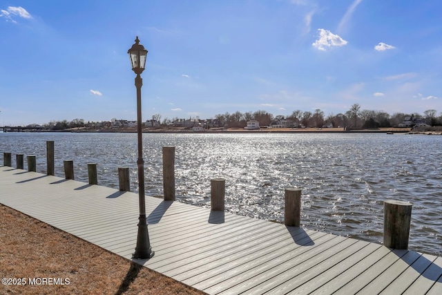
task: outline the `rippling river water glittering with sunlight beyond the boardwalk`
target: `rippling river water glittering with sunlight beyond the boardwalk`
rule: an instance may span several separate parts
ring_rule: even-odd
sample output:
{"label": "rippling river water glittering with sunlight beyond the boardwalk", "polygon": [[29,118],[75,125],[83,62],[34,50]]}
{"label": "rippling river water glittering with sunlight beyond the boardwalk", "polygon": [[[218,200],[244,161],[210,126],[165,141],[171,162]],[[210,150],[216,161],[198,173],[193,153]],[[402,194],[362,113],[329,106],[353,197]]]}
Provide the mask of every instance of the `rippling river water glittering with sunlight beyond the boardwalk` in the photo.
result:
{"label": "rippling river water glittering with sunlight beyond the boardwalk", "polygon": [[[3,152],[37,155],[46,173],[46,140],[55,141],[55,175],[74,160],[75,179],[118,188],[117,167],[131,169],[137,191],[135,133],[0,133]],[[410,249],[442,254],[442,136],[386,134],[144,134],[146,194],[162,196],[162,146],[175,146],[177,199],[209,206],[210,179],[226,179],[226,209],[283,220],[284,188],[302,189],[301,223],[381,243],[383,201],[413,203]],[[25,164],[26,166],[26,164]]]}

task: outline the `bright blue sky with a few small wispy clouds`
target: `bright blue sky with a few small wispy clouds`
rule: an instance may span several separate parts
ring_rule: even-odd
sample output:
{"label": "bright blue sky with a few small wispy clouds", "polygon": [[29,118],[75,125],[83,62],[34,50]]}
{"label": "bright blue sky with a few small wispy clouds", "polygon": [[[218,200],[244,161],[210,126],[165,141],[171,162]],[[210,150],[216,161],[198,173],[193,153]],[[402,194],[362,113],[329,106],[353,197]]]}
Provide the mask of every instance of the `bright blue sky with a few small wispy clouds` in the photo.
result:
{"label": "bright blue sky with a few small wispy clouds", "polygon": [[442,111],[440,0],[0,1],[0,124]]}

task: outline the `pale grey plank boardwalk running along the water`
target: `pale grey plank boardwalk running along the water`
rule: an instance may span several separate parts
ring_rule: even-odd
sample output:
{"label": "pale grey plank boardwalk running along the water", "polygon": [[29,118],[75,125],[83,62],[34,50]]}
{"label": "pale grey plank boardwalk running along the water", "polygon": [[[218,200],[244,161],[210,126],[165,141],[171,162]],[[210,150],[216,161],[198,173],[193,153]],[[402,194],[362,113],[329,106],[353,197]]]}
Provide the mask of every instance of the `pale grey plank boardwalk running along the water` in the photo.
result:
{"label": "pale grey plank boardwalk running along the water", "polygon": [[[138,195],[0,166],[0,202],[131,259]],[[442,258],[147,198],[155,256],[208,294],[442,294]],[[412,234],[412,233],[411,233]]]}

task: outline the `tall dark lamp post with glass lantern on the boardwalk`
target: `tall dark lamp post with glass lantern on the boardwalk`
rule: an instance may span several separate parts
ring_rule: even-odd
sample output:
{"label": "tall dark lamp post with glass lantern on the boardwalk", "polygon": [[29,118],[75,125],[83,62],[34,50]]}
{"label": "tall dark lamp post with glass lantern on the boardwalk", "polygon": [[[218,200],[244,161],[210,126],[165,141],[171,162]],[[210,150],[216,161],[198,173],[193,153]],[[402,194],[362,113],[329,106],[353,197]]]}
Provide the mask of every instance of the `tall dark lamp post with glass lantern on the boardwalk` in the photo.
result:
{"label": "tall dark lamp post with glass lantern on the boardwalk", "polygon": [[148,259],[155,253],[152,251],[149,233],[147,229],[146,218],[146,196],[144,196],[144,160],[143,160],[143,142],[142,142],[142,119],[141,119],[141,86],[143,79],[140,74],[143,73],[146,65],[147,50],[140,44],[140,40],[135,39],[135,44],[127,52],[131,57],[132,70],[137,74],[135,77],[135,86],[137,87],[137,134],[138,134],[138,193],[140,201],[140,222],[138,222],[137,247],[133,258]]}

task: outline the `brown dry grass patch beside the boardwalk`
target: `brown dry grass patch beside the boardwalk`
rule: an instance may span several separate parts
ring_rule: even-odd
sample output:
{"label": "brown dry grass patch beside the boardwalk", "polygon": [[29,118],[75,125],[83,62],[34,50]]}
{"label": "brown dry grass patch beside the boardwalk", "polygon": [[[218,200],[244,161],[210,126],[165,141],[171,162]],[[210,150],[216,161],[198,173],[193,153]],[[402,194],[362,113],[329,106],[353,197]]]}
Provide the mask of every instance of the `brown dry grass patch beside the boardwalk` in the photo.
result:
{"label": "brown dry grass patch beside the boardwalk", "polygon": [[15,284],[0,294],[204,294],[3,204],[0,220],[0,276]]}

